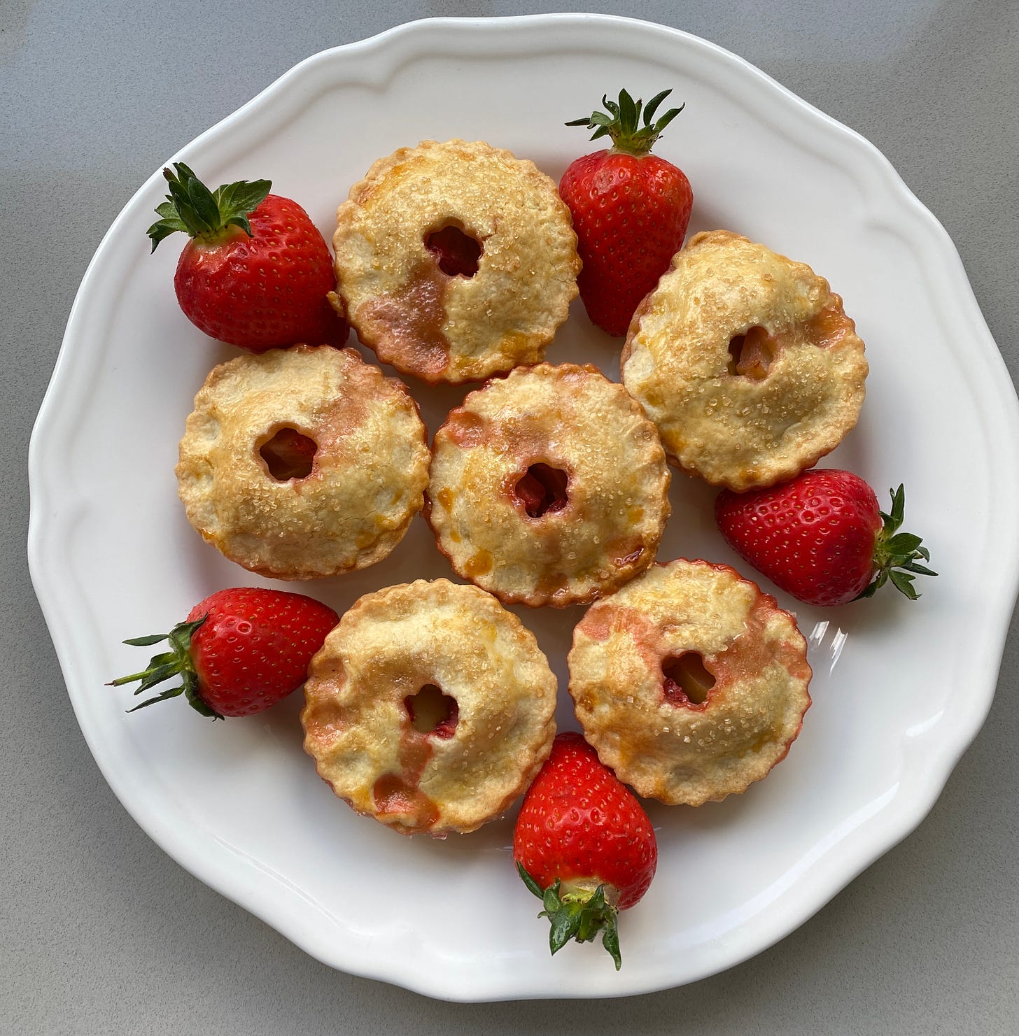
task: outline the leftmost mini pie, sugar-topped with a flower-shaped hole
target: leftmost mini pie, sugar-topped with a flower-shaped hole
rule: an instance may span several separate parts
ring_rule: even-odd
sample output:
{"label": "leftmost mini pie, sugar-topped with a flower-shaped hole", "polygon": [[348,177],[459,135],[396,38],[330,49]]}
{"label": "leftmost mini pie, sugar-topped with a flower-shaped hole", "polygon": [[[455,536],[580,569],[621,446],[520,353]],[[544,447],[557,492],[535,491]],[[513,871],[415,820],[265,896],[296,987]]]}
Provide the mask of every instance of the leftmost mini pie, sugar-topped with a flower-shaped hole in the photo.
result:
{"label": "leftmost mini pie, sugar-topped with a flower-shaped hole", "polygon": [[214,368],[180,440],[188,518],[231,560],[309,579],[381,560],[421,510],[426,430],[353,349],[299,345]]}

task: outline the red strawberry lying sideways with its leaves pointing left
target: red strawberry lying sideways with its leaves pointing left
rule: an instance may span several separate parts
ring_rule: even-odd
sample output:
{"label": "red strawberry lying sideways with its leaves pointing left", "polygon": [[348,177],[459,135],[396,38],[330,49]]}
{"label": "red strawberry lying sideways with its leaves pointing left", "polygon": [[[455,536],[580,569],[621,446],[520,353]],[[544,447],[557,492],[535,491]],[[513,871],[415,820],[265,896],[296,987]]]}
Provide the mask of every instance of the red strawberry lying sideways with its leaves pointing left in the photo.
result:
{"label": "red strawberry lying sideways with its leaves pointing left", "polygon": [[217,591],[169,634],[124,640],[147,648],[169,639],[170,651],[157,655],[143,672],[107,686],[140,680],[135,694],[141,694],[179,675],[179,687],[129,712],[185,694],[193,708],[214,720],[251,716],[301,687],[312,655],[338,622],[332,608],[303,594],[251,586]]}

